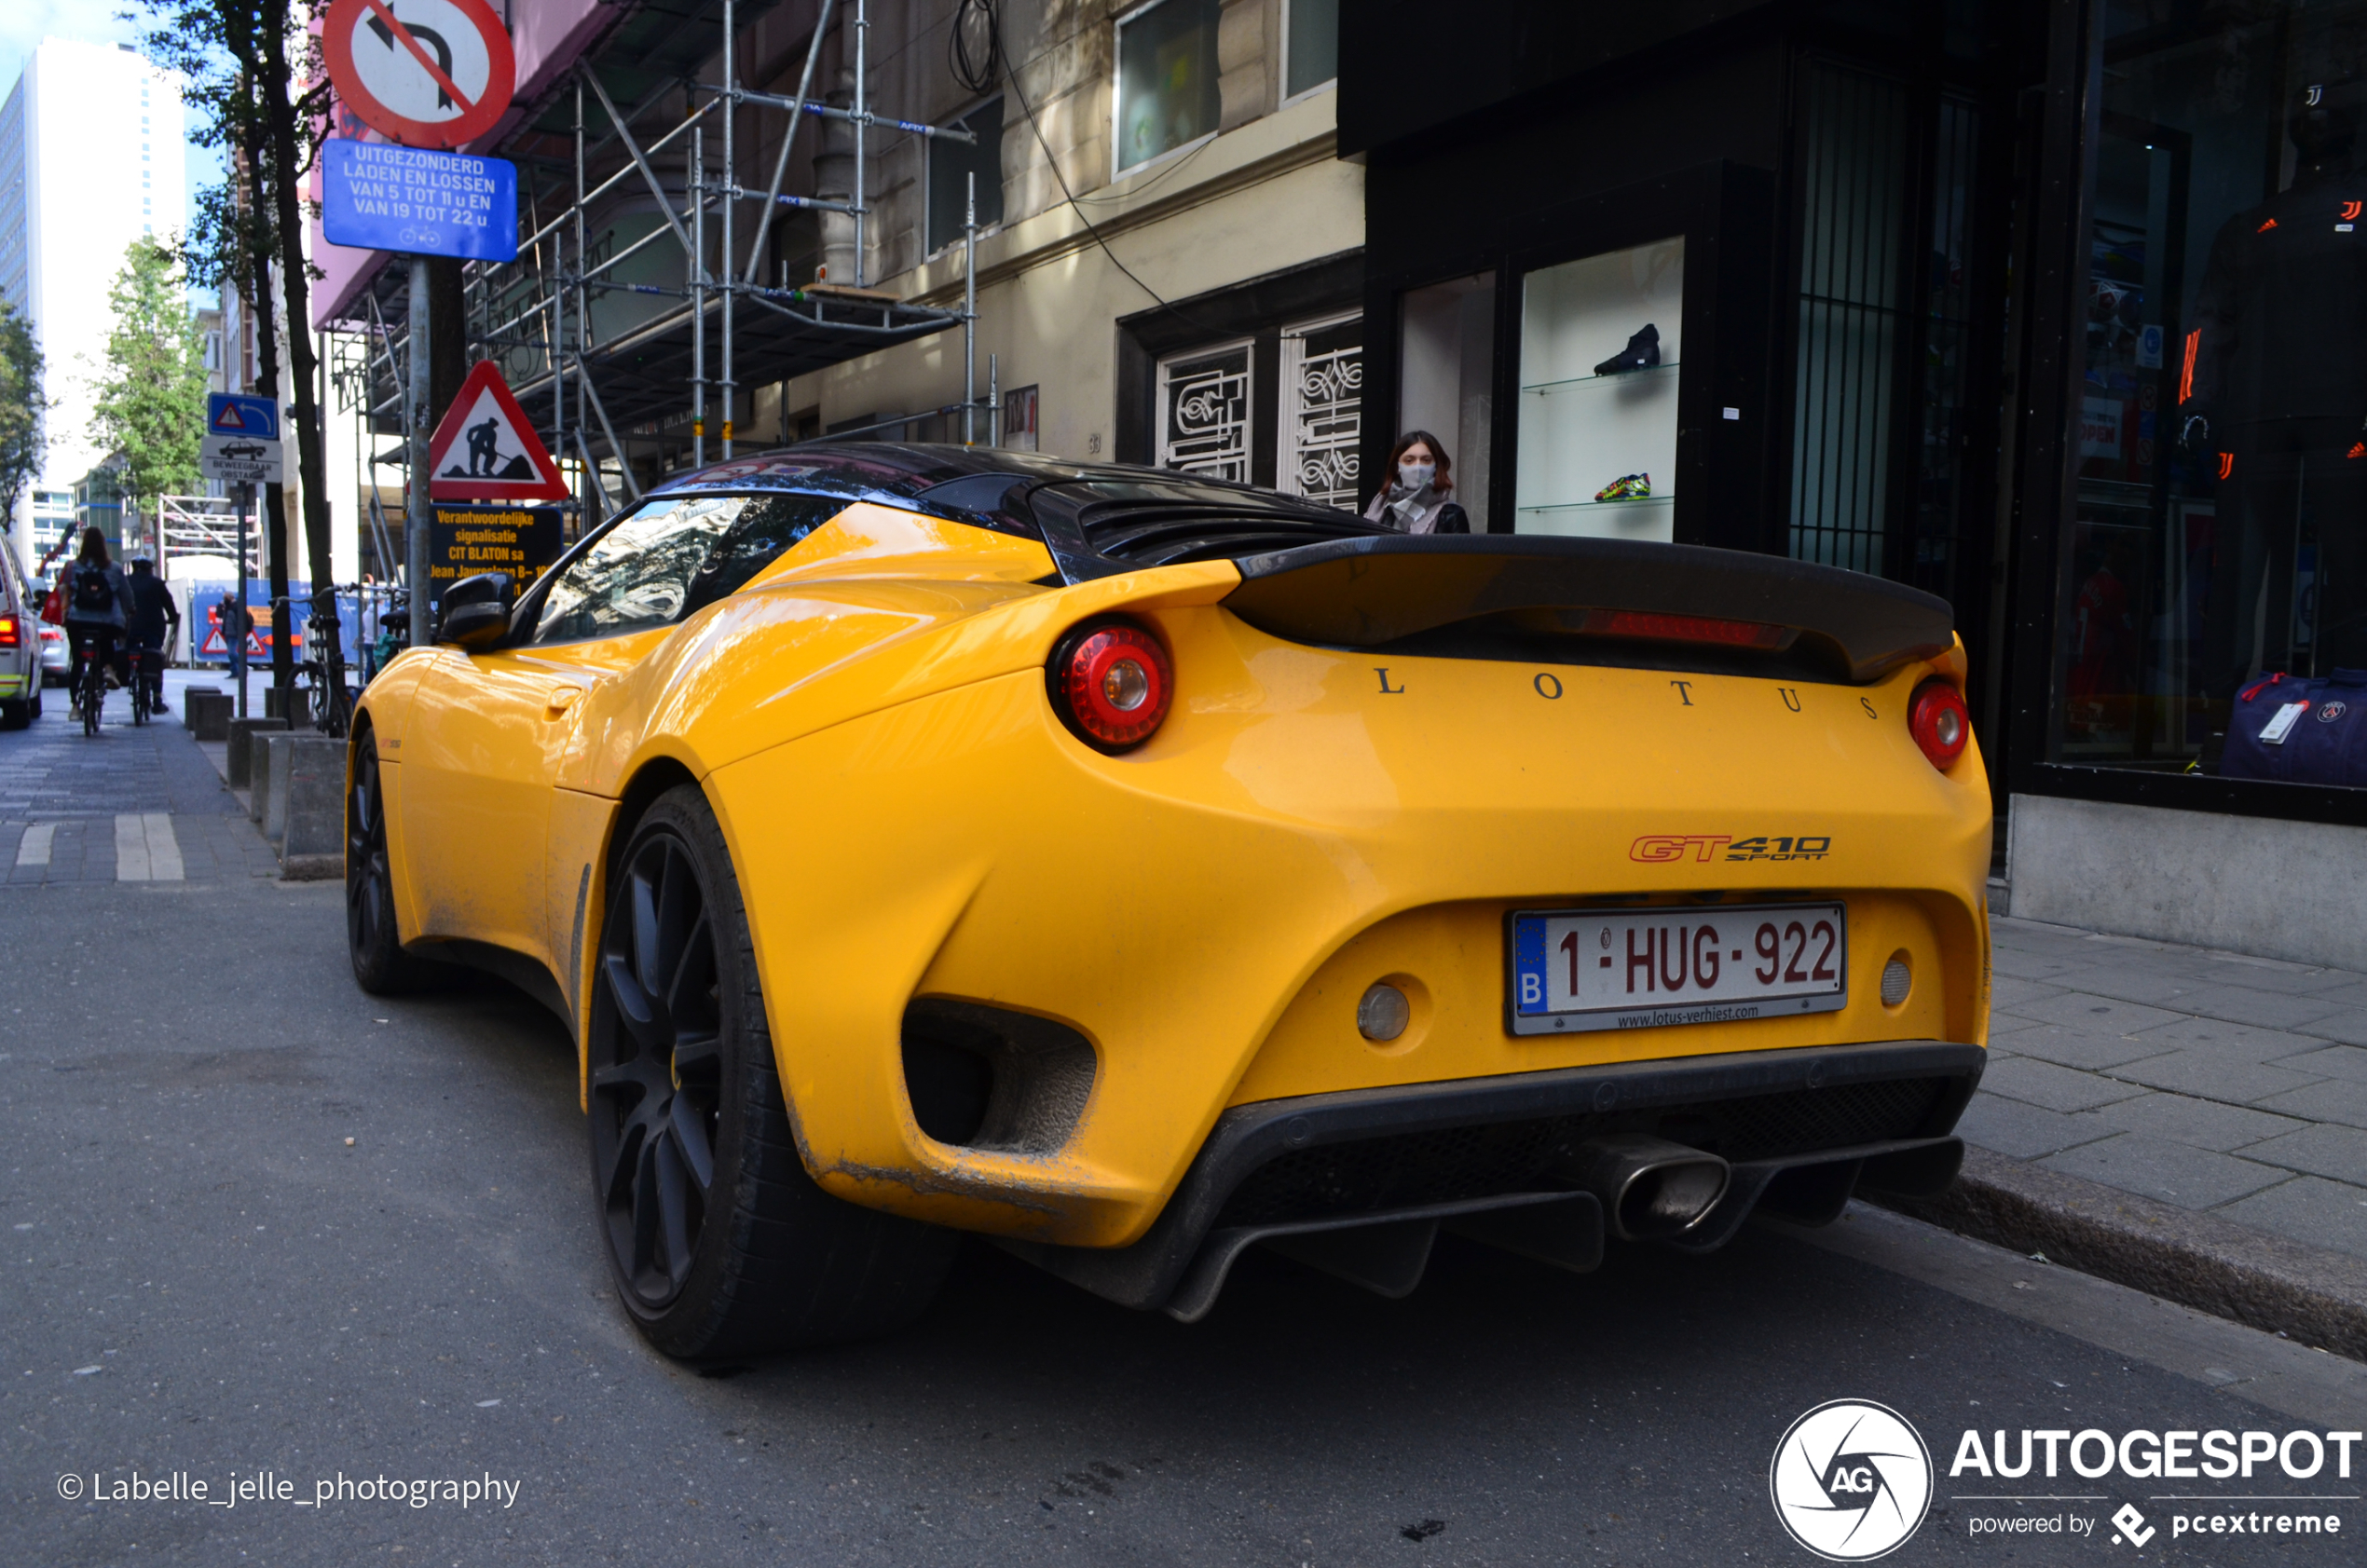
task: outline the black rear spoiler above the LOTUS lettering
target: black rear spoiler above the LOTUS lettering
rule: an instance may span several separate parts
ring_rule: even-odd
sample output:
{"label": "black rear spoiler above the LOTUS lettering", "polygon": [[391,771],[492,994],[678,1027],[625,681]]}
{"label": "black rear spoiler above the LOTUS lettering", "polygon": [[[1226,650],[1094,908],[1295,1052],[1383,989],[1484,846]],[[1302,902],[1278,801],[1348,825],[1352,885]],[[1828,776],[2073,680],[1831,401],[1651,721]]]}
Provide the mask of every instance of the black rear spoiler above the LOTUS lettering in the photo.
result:
{"label": "black rear spoiler above the LOTUS lettering", "polygon": [[[1449,627],[1707,641],[1792,653],[1853,683],[1955,646],[1948,601],[1865,572],[1782,556],[1565,539],[1387,534],[1240,556],[1224,608],[1295,643],[1380,648]],[[1659,624],[1643,617],[1666,617]],[[1472,627],[1479,622],[1479,627]],[[1716,624],[1709,624],[1716,622]]]}

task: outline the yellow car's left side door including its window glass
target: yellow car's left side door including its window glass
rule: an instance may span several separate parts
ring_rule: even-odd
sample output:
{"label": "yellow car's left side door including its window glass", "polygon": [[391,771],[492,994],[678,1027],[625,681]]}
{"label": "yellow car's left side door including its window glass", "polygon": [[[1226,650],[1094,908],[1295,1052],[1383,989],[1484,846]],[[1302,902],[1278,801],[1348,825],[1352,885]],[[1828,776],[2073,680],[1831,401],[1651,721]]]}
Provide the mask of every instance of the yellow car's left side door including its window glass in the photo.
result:
{"label": "yellow car's left side door including its window glass", "polygon": [[400,804],[424,937],[488,941],[563,974],[570,932],[552,929],[544,861],[582,695],[843,508],[817,497],[651,499],[554,572],[514,646],[436,650],[405,728]]}

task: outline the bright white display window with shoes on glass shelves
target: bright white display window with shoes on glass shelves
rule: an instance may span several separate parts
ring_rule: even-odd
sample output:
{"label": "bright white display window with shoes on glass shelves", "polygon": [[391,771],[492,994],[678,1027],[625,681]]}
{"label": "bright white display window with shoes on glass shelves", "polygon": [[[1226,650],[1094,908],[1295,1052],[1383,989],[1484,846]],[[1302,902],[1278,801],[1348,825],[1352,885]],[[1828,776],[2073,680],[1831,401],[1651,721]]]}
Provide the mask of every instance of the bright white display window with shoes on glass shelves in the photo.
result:
{"label": "bright white display window with shoes on glass shelves", "polygon": [[1607,251],[1522,279],[1517,532],[1676,537],[1683,345],[1683,239]]}

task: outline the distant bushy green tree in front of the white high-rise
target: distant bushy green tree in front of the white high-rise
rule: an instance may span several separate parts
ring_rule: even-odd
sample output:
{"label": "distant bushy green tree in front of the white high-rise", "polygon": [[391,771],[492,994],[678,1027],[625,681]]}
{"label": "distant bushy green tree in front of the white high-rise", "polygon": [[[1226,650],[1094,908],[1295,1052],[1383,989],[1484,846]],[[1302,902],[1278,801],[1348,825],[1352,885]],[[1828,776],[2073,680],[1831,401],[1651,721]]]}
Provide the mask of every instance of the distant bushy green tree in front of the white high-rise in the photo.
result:
{"label": "distant bushy green tree in front of the white high-rise", "polygon": [[135,239],[107,307],[114,329],[90,435],[123,454],[123,487],[135,499],[194,490],[206,438],[206,341],[189,317],[175,251]]}

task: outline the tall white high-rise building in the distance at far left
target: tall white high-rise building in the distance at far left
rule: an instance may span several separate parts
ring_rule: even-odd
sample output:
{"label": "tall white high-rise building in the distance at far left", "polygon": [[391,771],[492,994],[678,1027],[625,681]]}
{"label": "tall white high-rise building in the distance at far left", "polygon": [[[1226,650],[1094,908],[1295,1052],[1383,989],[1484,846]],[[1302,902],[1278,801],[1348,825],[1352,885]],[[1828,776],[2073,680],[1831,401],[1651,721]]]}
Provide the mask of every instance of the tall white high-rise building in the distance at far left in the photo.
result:
{"label": "tall white high-rise building in the distance at far left", "polygon": [[[45,38],[0,106],[0,296],[31,319],[52,400],[36,494],[71,497],[107,456],[90,438],[107,291],[135,239],[187,227],[185,149],[178,78],[121,45]],[[26,568],[33,506],[9,520]]]}

